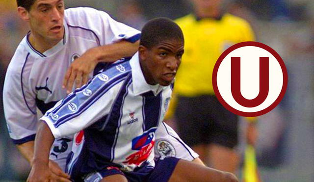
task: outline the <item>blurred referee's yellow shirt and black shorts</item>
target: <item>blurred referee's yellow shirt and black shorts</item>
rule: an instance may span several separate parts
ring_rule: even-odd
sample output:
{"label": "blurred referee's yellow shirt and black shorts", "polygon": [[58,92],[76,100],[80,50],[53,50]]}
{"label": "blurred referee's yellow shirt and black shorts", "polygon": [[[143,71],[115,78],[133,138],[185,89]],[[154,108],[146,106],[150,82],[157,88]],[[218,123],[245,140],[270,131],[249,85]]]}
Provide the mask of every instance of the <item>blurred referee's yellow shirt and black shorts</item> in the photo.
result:
{"label": "blurred referee's yellow shirt and black shorts", "polygon": [[214,96],[211,76],[220,54],[236,43],[254,41],[253,31],[245,20],[231,14],[219,19],[198,19],[190,14],[176,22],[184,35],[174,89],[179,134],[190,146],[214,142],[233,148],[238,119]]}

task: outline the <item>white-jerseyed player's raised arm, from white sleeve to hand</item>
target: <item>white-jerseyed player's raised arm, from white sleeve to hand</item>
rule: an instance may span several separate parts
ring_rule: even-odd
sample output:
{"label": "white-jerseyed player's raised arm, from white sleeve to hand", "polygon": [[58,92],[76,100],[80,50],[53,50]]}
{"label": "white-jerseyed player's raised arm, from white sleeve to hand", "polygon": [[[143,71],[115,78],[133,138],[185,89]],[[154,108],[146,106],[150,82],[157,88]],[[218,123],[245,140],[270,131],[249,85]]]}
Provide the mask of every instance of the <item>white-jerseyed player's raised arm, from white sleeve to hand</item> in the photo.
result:
{"label": "white-jerseyed player's raised arm, from white sleeve to hand", "polygon": [[73,21],[81,17],[81,22],[77,23],[84,22],[84,26],[92,29],[98,37],[97,41],[100,46],[88,50],[72,63],[64,78],[63,86],[67,88],[67,91],[72,91],[74,82],[76,82],[76,87],[85,84],[97,63],[131,57],[137,51],[140,31],[113,20],[104,11],[78,8],[69,15],[72,15],[70,17]]}

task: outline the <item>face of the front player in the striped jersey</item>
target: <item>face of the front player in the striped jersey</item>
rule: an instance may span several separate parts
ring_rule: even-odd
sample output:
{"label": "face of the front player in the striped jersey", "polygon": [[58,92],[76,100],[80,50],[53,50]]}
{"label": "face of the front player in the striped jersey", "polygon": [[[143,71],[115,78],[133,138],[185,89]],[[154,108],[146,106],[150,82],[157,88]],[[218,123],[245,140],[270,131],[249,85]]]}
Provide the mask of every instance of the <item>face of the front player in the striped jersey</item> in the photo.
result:
{"label": "face of the front player in the striped jersey", "polygon": [[162,86],[171,84],[181,63],[183,46],[181,40],[172,39],[164,40],[152,49],[146,49],[141,66],[147,83],[158,83]]}

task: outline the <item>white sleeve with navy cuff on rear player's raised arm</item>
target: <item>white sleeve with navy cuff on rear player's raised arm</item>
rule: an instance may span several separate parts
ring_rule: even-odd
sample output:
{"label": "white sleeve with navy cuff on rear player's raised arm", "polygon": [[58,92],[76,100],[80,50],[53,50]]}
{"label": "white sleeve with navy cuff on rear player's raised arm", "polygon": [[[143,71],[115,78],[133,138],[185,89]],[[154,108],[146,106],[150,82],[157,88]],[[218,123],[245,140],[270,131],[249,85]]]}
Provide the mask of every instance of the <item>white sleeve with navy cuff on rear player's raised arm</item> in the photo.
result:
{"label": "white sleeve with navy cuff on rear player's raised arm", "polygon": [[111,44],[120,40],[134,43],[140,38],[140,31],[113,20],[104,11],[79,7],[67,9],[66,14],[78,26],[87,27],[94,31],[100,45]]}

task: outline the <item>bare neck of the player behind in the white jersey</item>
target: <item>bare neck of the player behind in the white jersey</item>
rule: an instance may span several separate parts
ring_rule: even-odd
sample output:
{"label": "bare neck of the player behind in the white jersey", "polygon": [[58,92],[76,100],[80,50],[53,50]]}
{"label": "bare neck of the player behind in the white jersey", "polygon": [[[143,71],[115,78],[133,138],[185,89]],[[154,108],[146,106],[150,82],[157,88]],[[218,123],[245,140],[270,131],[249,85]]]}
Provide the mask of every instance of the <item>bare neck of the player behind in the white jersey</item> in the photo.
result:
{"label": "bare neck of the player behind in the white jersey", "polygon": [[38,52],[43,53],[55,46],[60,40],[48,40],[31,32],[28,41]]}

